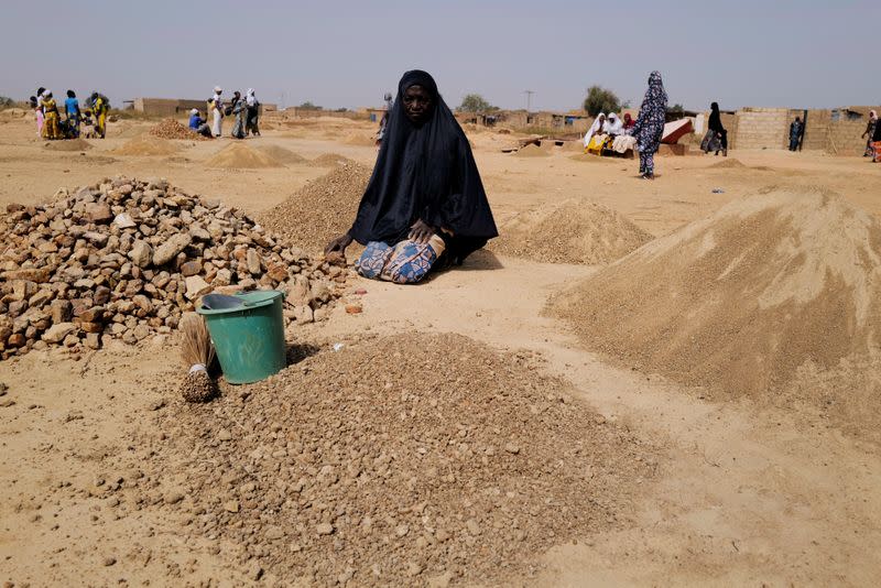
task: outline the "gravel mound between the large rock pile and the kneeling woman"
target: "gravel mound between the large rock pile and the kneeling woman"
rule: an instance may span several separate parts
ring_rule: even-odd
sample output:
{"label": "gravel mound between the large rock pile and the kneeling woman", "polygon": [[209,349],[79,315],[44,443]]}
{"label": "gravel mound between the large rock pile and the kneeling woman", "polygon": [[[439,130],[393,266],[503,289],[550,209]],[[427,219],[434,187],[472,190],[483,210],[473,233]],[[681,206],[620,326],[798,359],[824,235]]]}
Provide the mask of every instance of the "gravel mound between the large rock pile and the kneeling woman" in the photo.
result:
{"label": "gravel mound between the large rock pile and the kneeling woman", "polygon": [[371,173],[357,163],[340,165],[262,213],[258,220],[306,251],[320,251],[351,227]]}

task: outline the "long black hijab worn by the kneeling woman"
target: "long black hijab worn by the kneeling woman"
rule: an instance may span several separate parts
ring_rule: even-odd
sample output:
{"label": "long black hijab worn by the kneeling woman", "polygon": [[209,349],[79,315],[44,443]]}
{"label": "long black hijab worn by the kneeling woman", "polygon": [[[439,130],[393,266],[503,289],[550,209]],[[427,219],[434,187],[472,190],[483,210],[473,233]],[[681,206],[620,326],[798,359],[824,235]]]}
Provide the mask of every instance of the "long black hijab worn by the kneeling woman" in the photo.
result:
{"label": "long black hijab worn by the kneeling woman", "polygon": [[[404,112],[404,92],[422,86],[432,111],[416,126]],[[498,235],[471,146],[431,75],[406,72],[389,115],[373,175],[361,197],[351,237],[361,244],[406,239],[422,219],[440,232],[449,261],[461,263]]]}

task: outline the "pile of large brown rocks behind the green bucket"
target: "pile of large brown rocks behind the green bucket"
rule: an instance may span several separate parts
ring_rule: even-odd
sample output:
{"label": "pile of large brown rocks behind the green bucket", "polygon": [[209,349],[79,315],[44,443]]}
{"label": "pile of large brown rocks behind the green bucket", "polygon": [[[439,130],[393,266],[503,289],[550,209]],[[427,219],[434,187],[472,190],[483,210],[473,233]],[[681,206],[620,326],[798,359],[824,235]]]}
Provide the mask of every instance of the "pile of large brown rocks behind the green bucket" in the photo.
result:
{"label": "pile of large brown rocks behind the green bucket", "polygon": [[9,205],[0,238],[3,359],[170,333],[211,291],[283,290],[287,320],[322,319],[347,276],[164,179],[108,178],[44,205]]}

